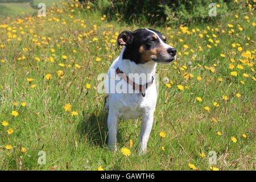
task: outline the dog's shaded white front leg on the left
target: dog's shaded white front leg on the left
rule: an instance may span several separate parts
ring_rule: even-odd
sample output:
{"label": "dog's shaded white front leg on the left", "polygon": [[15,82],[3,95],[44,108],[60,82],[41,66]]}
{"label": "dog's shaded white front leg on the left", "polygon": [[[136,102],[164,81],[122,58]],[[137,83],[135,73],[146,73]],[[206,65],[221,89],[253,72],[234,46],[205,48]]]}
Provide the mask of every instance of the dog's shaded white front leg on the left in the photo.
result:
{"label": "dog's shaded white front leg on the left", "polygon": [[109,148],[111,150],[116,151],[117,150],[118,117],[112,110],[109,110],[108,129],[109,129]]}

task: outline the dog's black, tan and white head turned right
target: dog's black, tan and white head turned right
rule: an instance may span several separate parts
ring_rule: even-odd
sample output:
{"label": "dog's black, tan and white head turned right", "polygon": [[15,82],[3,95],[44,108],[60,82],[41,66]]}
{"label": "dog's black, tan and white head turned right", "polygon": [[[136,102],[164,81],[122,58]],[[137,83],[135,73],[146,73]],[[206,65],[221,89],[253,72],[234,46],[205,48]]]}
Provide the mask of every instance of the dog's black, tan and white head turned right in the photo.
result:
{"label": "dog's black, tan and white head turned right", "polygon": [[137,64],[148,61],[171,63],[176,59],[176,49],[166,43],[165,36],[151,28],[121,32],[117,38],[118,49],[120,45],[126,46],[123,59],[129,59]]}

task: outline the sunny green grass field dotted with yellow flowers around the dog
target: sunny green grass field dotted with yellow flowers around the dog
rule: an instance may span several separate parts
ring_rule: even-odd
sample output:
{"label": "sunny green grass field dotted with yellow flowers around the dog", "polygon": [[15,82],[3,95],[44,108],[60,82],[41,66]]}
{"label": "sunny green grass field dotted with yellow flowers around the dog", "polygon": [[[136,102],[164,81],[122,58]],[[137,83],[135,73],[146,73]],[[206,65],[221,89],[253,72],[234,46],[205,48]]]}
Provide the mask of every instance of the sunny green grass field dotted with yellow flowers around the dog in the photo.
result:
{"label": "sunny green grass field dotted with yellow flowers around the dog", "polygon": [[154,126],[138,155],[134,120],[119,121],[118,151],[108,149],[97,76],[119,55],[119,32],[150,25],[73,5],[1,19],[1,170],[255,170],[255,11],[244,2],[215,23],[154,27],[178,56],[158,65]]}

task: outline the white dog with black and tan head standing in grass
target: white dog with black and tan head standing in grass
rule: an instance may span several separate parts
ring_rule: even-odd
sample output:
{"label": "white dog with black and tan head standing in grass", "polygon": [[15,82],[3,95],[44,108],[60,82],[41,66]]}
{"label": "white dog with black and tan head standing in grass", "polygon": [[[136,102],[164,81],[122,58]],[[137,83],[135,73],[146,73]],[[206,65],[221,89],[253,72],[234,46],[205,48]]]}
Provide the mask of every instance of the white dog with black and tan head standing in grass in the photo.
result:
{"label": "white dog with black and tan head standing in grass", "polygon": [[119,46],[123,46],[122,51],[105,78],[108,145],[117,150],[119,118],[142,117],[139,153],[145,154],[157,100],[156,64],[175,60],[176,49],[166,43],[165,36],[151,28],[121,32],[117,38],[118,49]]}

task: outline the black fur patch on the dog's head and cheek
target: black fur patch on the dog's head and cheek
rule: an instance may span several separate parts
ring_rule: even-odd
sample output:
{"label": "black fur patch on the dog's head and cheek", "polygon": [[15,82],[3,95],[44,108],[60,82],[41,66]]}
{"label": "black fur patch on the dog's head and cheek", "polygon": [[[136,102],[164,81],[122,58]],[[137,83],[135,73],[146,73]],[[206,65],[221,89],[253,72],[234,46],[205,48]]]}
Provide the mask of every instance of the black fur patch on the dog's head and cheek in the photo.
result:
{"label": "black fur patch on the dog's head and cheek", "polygon": [[[165,42],[162,38],[162,34],[159,31],[153,30],[151,28],[148,28],[148,30],[156,32],[158,37],[162,39],[163,42]],[[134,61],[136,64],[140,64],[142,63],[142,60],[141,53],[139,53],[139,49],[142,46],[145,51],[160,46],[159,38],[155,39],[153,36],[155,34],[148,30],[146,30],[145,28],[141,28],[135,30],[134,32],[131,32],[131,35],[133,36],[133,41],[125,45],[126,49],[123,52],[123,59],[129,59],[131,61]]]}

